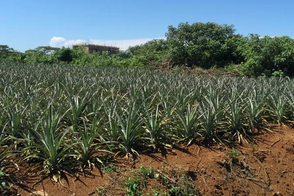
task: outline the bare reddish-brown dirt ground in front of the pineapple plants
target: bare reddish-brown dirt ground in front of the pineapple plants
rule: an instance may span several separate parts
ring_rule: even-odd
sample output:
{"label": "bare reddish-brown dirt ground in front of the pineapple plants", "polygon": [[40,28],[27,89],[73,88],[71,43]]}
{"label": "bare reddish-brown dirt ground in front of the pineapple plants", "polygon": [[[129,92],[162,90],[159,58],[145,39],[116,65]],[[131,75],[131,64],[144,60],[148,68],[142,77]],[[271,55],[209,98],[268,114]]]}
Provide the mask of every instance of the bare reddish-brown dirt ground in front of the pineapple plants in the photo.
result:
{"label": "bare reddish-brown dirt ground in front of the pineapple plants", "polygon": [[[48,196],[125,196],[122,181],[137,175],[144,165],[170,184],[178,181],[178,173],[185,173],[203,196],[294,196],[294,129],[284,125],[271,125],[270,129],[273,133],[256,136],[254,145],[236,147],[241,154],[234,155],[231,148],[222,145],[183,146],[164,155],[140,155],[136,161],[117,158],[103,170],[103,178],[94,170],[85,176],[80,174],[79,179],[64,175],[62,184],[50,178],[35,184],[36,180],[31,179],[24,186],[15,185],[14,194],[31,196],[32,192],[45,190]],[[169,185],[161,179],[148,178],[144,194],[168,190]]]}

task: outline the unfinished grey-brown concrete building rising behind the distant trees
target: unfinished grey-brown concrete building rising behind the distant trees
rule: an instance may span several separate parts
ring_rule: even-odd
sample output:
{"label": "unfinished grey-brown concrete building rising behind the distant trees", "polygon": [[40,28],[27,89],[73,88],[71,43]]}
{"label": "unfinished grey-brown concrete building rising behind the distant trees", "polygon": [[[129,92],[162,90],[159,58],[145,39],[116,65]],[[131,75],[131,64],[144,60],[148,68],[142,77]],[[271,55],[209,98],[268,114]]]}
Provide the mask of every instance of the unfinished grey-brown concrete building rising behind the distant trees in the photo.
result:
{"label": "unfinished grey-brown concrete building rising behind the distant trees", "polygon": [[87,44],[87,43],[75,44],[73,45],[73,48],[82,48],[89,53],[106,51],[108,55],[117,54],[120,50],[120,48],[118,47],[101,46],[101,45]]}

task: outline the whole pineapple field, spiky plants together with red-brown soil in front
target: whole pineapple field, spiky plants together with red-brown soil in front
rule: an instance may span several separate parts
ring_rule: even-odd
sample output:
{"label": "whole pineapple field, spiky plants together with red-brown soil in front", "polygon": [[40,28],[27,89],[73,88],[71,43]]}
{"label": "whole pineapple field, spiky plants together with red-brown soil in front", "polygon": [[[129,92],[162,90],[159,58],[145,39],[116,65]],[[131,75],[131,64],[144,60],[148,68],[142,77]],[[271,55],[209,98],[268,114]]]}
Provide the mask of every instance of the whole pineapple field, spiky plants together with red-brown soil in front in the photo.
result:
{"label": "whole pineapple field, spiky plants together with red-brown soil in front", "polygon": [[2,195],[294,193],[292,78],[2,62],[0,92]]}

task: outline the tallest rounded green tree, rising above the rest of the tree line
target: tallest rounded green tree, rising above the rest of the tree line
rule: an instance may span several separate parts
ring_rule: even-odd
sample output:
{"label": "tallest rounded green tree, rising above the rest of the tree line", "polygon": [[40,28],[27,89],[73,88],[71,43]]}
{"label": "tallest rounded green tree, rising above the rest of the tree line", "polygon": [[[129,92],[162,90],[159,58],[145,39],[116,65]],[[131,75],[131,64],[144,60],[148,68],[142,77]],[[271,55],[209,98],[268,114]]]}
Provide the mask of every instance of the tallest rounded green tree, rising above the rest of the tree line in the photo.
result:
{"label": "tallest rounded green tree, rising above the rest of the tree line", "polygon": [[236,46],[229,42],[236,35],[233,25],[216,23],[180,23],[166,33],[170,59],[178,65],[210,68],[234,61]]}

